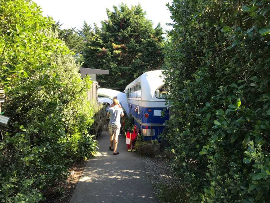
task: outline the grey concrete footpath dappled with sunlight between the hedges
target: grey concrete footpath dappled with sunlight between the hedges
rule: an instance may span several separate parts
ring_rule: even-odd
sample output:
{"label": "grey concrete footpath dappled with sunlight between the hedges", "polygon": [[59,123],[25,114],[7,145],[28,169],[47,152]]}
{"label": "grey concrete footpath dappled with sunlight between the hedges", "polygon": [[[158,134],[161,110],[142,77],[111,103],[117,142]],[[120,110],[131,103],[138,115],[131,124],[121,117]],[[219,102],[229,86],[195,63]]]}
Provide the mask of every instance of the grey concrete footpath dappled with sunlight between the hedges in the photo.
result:
{"label": "grey concrete footpath dappled with sunlight between the hedges", "polygon": [[99,153],[88,160],[69,203],[159,203],[140,157],[128,152],[125,142],[120,135],[120,154],[113,155],[109,133],[103,131]]}

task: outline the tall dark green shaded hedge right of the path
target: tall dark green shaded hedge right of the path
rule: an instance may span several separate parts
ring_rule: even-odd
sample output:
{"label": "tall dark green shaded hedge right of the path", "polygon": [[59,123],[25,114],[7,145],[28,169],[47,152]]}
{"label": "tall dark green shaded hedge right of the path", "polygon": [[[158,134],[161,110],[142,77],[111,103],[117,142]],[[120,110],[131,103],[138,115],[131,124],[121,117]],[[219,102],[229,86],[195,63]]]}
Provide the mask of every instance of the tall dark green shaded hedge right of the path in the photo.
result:
{"label": "tall dark green shaded hedge right of the path", "polygon": [[174,0],[167,139],[188,202],[269,202],[270,4]]}

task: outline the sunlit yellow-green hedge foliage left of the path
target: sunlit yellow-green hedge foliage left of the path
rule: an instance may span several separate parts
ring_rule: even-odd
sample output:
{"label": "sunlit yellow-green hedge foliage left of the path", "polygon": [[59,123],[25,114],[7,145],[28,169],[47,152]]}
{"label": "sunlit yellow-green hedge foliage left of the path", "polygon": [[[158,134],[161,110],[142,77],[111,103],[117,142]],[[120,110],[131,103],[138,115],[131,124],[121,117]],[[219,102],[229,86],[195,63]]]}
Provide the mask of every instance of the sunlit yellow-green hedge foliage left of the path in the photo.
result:
{"label": "sunlit yellow-green hedge foliage left of the path", "polygon": [[95,152],[88,129],[89,78],[52,31],[52,19],[30,0],[0,0],[0,201],[38,202],[42,190],[65,181],[68,165]]}

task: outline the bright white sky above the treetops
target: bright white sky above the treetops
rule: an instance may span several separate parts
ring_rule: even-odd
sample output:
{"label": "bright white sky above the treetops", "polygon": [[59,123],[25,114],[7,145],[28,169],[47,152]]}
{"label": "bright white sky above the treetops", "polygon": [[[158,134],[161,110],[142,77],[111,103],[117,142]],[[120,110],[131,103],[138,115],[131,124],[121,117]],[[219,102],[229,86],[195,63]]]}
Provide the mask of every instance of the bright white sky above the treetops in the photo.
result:
{"label": "bright white sky above the treetops", "polygon": [[113,5],[119,5],[124,2],[130,8],[131,5],[141,4],[146,11],[146,18],[153,21],[154,27],[161,23],[163,30],[172,29],[166,23],[172,23],[170,11],[166,3],[172,0],[33,0],[41,6],[44,16],[51,16],[55,21],[60,20],[63,23],[62,29],[74,28],[79,29],[83,21],[93,26],[97,23],[101,26],[100,21],[106,20],[106,8],[113,10]]}

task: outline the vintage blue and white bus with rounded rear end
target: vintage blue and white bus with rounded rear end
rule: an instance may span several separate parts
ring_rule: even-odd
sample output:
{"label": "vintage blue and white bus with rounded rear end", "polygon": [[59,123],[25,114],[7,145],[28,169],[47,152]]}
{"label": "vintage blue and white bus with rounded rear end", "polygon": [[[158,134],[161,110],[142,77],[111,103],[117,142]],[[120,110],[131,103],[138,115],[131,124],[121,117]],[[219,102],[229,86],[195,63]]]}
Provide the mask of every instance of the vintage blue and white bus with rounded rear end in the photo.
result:
{"label": "vintage blue and white bus with rounded rear end", "polygon": [[125,88],[130,115],[145,140],[158,139],[169,119],[162,70],[143,73]]}

